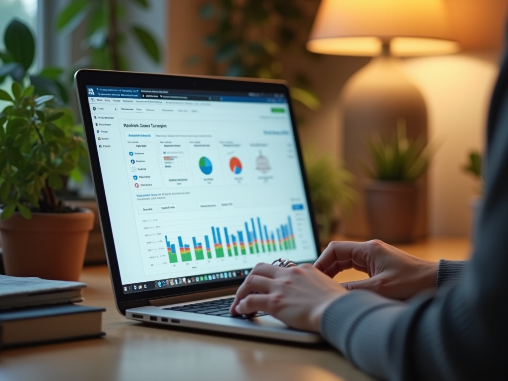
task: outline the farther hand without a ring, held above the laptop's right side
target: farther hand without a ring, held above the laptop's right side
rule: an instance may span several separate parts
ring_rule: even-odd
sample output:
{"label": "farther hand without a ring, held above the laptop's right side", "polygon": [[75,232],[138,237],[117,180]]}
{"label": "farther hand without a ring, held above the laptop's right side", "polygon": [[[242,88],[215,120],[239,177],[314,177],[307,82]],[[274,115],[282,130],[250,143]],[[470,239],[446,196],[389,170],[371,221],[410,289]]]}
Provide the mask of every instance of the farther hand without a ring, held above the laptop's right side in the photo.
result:
{"label": "farther hand without a ring, held above the laptop's right side", "polygon": [[401,300],[435,288],[437,265],[379,240],[331,242],[314,263],[314,267],[332,278],[351,268],[369,275],[368,279],[342,283],[347,290],[365,289]]}

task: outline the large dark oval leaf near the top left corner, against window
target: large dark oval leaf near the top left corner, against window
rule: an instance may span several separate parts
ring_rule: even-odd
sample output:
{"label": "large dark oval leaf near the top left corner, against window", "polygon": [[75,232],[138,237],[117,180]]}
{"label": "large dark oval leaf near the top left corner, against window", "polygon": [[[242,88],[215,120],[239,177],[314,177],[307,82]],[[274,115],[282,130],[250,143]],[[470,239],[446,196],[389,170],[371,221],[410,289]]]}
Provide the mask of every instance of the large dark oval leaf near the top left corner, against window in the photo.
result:
{"label": "large dark oval leaf near the top left corner, against window", "polygon": [[35,56],[35,41],[30,29],[19,20],[11,21],[5,31],[4,43],[14,61],[28,70]]}

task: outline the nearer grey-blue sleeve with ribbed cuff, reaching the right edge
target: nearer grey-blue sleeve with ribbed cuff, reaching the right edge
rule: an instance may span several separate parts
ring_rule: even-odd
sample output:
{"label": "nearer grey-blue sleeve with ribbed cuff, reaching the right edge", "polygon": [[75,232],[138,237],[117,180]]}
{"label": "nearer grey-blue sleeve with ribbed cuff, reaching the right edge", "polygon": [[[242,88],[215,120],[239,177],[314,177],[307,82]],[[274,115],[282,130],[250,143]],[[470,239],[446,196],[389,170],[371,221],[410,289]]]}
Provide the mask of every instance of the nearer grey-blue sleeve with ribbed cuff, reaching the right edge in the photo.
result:
{"label": "nearer grey-blue sleeve with ribbed cuff, reaching the right edge", "polygon": [[333,302],[321,333],[364,371],[390,380],[508,379],[508,66],[488,126],[485,200],[460,280],[400,303],[368,291]]}

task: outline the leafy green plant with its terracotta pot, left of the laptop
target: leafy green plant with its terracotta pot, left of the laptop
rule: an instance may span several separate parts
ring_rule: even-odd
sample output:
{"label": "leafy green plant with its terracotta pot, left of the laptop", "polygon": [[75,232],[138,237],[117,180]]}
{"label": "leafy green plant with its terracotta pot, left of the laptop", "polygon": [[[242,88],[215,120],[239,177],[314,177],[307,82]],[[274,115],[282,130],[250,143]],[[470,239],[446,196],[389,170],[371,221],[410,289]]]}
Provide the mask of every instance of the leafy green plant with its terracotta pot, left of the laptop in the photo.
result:
{"label": "leafy green plant with its terracotta pot, left of the laptop", "polygon": [[[46,105],[34,86],[13,82],[0,113],[0,233],[5,271],[14,276],[77,280],[93,212],[55,195],[86,154],[69,110]],[[79,128],[79,127],[78,127]]]}

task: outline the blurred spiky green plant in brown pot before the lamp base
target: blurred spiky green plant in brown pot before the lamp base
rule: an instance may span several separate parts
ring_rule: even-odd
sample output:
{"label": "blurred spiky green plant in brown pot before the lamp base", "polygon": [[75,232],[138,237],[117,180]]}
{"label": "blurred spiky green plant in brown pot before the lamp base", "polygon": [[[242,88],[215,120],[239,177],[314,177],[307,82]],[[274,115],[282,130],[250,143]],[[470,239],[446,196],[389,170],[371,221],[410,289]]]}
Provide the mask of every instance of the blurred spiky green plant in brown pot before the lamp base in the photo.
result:
{"label": "blurred spiky green plant in brown pot before the lamp base", "polygon": [[393,137],[375,134],[366,145],[372,161],[366,169],[373,181],[365,189],[371,238],[392,243],[414,241],[416,181],[428,167],[428,146],[422,137],[408,139],[402,120]]}

